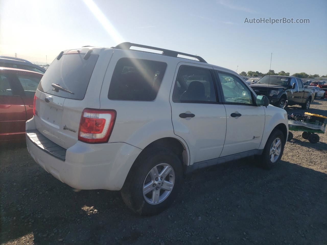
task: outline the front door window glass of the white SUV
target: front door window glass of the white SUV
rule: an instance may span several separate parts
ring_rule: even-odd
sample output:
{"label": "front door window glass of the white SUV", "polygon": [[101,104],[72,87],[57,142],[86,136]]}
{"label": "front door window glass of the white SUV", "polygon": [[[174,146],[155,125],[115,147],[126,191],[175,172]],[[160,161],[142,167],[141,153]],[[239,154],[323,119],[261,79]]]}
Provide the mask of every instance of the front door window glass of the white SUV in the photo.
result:
{"label": "front door window glass of the white SUV", "polygon": [[249,88],[236,76],[217,72],[225,103],[253,104]]}

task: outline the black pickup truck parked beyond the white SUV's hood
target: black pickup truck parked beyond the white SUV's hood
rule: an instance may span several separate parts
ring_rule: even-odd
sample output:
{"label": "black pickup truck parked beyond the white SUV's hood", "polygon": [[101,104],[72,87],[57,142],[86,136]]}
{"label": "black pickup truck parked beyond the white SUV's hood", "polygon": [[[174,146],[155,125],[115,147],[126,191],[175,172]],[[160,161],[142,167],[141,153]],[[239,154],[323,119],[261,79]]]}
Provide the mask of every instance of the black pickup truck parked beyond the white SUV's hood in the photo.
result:
{"label": "black pickup truck parked beyond the white SUV's hood", "polygon": [[293,76],[264,76],[250,85],[256,94],[266,95],[269,103],[284,108],[287,105],[301,105],[309,109],[314,96],[311,89],[305,88],[301,78]]}

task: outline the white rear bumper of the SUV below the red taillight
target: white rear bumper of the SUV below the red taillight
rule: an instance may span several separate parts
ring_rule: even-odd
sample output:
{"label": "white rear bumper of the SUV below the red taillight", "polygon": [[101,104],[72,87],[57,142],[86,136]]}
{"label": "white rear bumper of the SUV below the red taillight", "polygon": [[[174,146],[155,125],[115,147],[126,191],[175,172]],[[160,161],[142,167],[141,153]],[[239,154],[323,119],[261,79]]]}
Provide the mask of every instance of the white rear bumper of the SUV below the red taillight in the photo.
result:
{"label": "white rear bumper of the SUV below the red taillight", "polygon": [[[26,129],[31,129],[28,120]],[[77,141],[60,160],[44,151],[26,136],[29,154],[46,171],[61,182],[77,189],[122,188],[130,167],[141,149],[123,142],[87,144]]]}

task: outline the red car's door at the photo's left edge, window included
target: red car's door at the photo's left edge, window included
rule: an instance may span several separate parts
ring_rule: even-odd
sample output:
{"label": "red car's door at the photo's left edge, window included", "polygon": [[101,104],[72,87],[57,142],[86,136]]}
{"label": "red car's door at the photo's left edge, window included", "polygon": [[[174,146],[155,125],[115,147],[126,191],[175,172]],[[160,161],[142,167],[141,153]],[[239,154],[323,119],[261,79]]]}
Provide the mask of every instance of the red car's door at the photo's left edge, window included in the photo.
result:
{"label": "red car's door at the photo's left edge, window included", "polygon": [[26,111],[14,80],[0,73],[0,141],[25,138]]}

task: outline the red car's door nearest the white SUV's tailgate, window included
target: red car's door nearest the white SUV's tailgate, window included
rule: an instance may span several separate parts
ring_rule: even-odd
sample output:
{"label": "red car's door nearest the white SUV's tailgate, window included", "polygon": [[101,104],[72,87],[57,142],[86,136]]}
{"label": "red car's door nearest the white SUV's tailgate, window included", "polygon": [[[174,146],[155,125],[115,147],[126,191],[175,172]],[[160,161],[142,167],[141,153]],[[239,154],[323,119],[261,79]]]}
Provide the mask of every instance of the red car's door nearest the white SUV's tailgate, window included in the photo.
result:
{"label": "red car's door nearest the white SUV's tailgate, window included", "polygon": [[29,120],[33,117],[34,94],[42,76],[17,74],[16,77],[18,80],[17,83],[19,83],[21,89],[24,90],[21,97],[26,108],[26,120]]}

